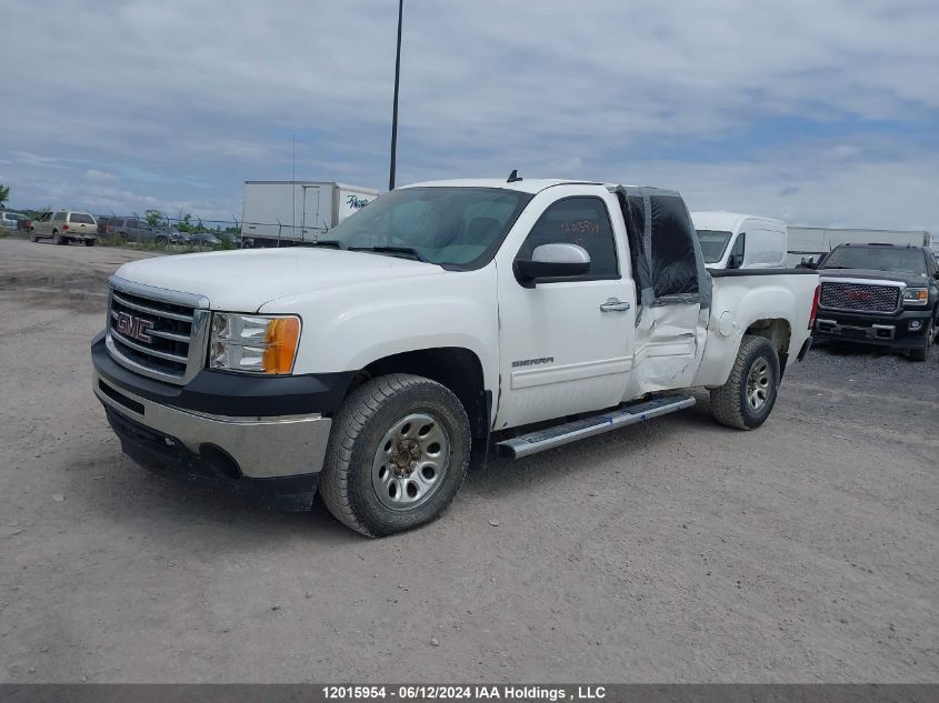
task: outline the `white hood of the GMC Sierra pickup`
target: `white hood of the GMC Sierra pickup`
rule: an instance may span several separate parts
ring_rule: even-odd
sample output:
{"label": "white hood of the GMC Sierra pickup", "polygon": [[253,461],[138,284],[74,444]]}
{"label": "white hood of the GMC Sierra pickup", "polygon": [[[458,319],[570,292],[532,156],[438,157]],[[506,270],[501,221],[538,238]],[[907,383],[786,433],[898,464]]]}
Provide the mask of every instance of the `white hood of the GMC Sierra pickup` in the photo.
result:
{"label": "white hood of the GMC Sierra pickup", "polygon": [[117,275],[204,295],[212,310],[256,312],[287,295],[442,272],[432,263],[390,255],[290,247],[160,257],[126,263]]}

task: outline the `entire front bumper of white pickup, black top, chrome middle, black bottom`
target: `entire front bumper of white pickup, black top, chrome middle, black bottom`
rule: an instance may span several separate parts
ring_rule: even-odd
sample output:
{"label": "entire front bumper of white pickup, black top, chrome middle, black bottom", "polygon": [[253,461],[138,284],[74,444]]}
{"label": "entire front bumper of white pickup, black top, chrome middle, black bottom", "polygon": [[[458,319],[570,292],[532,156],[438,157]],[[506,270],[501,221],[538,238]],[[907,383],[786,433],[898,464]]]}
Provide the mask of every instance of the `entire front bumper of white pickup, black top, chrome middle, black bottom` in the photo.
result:
{"label": "entire front bumper of white pickup, black top, chrome middle, black bottom", "polygon": [[117,365],[103,335],[93,341],[91,356],[94,395],[121,449],[137,463],[258,494],[281,508],[310,508],[332,426],[324,413],[333,411],[334,396],[341,398],[344,375],[212,373],[169,388]]}

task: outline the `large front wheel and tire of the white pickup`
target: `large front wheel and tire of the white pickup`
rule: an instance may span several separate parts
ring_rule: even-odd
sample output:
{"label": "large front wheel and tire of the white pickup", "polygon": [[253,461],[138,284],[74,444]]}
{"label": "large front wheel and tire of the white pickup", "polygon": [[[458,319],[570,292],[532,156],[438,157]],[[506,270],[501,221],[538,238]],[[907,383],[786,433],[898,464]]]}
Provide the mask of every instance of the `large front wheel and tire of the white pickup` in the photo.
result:
{"label": "large front wheel and tire of the white pickup", "polygon": [[339,522],[366,536],[411,530],[453,501],[471,442],[467,413],[448,388],[407,373],[371,379],[332,423],[320,495]]}

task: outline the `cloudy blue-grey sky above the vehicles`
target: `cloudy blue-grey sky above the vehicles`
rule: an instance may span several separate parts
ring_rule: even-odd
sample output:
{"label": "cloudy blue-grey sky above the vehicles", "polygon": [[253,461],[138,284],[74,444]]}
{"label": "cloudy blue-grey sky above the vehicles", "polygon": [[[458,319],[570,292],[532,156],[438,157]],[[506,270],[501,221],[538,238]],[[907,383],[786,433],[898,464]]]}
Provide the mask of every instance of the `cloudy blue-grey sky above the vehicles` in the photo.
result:
{"label": "cloudy blue-grey sky above the vehicles", "polygon": [[[936,0],[406,0],[398,182],[571,177],[939,234]],[[4,9],[10,204],[241,214],[388,182],[394,0]]]}

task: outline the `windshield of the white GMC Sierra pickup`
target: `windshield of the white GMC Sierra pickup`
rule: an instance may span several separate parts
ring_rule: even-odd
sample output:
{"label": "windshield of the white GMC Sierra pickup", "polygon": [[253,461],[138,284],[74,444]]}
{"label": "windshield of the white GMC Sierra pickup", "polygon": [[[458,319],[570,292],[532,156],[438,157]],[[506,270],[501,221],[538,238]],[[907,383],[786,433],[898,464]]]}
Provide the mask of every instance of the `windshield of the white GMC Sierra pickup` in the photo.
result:
{"label": "windshield of the white GMC Sierra pickup", "polygon": [[324,239],[341,249],[472,269],[492,258],[529,200],[500,188],[404,188],[377,198]]}

